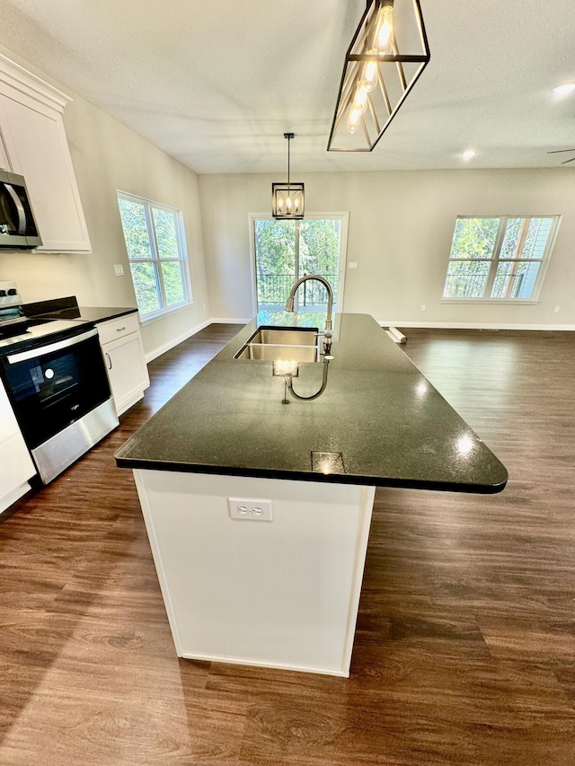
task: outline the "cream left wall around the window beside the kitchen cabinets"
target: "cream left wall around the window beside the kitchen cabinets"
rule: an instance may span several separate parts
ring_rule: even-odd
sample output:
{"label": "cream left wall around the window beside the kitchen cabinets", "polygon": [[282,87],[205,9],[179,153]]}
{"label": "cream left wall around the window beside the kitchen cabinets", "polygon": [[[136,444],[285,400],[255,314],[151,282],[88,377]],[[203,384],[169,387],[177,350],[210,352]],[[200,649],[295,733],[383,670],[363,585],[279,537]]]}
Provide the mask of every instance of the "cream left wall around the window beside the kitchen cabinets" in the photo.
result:
{"label": "cream left wall around the window beside the kitchen cabinets", "polygon": [[[146,323],[148,357],[173,345],[209,317],[208,280],[196,173],[70,92],[9,50],[2,52],[70,95],[64,124],[93,251],[87,254],[0,252],[0,279],[15,279],[25,302],[76,295],[86,306],[136,306],[116,189],[183,211],[194,305]],[[113,265],[124,266],[124,277]]]}

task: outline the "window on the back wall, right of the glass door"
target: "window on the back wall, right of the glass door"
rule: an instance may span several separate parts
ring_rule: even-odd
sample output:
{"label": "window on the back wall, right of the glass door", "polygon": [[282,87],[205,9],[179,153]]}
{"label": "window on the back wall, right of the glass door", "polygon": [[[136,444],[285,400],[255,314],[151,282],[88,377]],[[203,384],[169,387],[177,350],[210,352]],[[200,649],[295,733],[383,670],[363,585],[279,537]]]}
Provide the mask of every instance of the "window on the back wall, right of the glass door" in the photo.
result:
{"label": "window on the back wall, right of the glass door", "polygon": [[535,299],[558,225],[559,216],[459,216],[443,297]]}

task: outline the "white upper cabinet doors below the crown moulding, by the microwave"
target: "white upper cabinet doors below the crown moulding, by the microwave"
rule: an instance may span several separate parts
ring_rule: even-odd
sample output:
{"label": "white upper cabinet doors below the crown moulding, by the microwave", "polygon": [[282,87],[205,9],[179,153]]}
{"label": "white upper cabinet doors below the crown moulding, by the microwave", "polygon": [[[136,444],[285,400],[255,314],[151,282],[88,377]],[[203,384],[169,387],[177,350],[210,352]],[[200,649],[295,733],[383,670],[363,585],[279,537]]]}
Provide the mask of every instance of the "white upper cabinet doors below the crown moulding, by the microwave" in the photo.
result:
{"label": "white upper cabinet doors below the crown moulding, by the microwave", "polygon": [[[62,115],[20,94],[0,94],[0,122],[13,172],[26,179],[40,251],[89,251],[90,240],[75,182]],[[1,161],[1,153],[0,153]]]}

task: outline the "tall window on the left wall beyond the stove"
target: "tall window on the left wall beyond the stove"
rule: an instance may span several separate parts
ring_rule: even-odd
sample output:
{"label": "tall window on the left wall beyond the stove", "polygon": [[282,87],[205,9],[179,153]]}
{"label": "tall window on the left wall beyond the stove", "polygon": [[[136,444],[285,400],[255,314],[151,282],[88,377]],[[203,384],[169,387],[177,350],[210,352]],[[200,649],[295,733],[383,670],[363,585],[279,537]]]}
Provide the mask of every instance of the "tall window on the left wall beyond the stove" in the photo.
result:
{"label": "tall window on the left wall beyond the stove", "polygon": [[122,191],[118,205],[141,317],[190,304],[181,211]]}

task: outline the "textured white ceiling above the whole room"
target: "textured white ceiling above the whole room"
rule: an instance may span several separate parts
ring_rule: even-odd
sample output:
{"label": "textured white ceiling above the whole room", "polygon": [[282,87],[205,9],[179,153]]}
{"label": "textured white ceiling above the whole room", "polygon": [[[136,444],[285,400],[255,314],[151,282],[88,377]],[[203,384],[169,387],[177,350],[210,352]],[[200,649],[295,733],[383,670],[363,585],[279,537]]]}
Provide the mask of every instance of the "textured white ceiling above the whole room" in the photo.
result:
{"label": "textured white ceiling above the whole room", "polygon": [[421,6],[431,62],[369,154],[326,151],[364,0],[0,0],[0,44],[200,173],[285,172],[286,131],[292,172],[571,157],[545,153],[575,147],[572,0]]}

